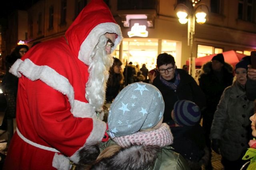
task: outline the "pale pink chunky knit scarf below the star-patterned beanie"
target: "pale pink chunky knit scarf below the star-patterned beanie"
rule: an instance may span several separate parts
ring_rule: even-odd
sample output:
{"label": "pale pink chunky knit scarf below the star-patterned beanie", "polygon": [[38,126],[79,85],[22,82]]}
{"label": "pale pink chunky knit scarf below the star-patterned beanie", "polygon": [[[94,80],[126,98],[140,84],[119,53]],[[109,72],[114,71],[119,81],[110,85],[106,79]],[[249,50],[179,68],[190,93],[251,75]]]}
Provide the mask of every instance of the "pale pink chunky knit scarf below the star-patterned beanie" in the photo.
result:
{"label": "pale pink chunky knit scarf below the star-patterned beanie", "polygon": [[164,147],[173,143],[173,136],[170,127],[162,123],[160,128],[151,131],[139,131],[137,133],[122,137],[115,137],[113,140],[120,147],[129,147],[130,145],[157,145]]}

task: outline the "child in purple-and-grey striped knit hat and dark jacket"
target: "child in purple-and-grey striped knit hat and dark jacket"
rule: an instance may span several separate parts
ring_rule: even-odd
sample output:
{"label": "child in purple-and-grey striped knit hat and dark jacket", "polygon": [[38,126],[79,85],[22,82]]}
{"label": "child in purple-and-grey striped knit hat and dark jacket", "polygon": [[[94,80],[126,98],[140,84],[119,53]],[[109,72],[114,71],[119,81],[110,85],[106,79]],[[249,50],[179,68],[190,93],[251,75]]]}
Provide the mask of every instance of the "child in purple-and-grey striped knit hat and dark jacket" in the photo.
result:
{"label": "child in purple-and-grey striped knit hat and dark jacket", "polygon": [[171,146],[187,160],[191,170],[201,170],[201,166],[209,162],[210,153],[200,118],[200,109],[194,102],[178,100],[174,104],[172,119],[175,127],[171,128],[174,138]]}

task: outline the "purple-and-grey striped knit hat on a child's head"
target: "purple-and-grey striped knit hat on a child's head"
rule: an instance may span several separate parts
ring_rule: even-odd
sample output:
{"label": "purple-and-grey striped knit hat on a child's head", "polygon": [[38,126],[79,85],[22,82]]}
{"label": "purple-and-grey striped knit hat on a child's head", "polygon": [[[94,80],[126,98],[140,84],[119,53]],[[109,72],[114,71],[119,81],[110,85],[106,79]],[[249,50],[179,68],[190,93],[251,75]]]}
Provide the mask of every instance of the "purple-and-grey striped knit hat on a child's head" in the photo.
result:
{"label": "purple-and-grey striped knit hat on a child's head", "polygon": [[178,125],[194,126],[201,117],[200,108],[188,100],[178,100],[174,104],[174,121]]}

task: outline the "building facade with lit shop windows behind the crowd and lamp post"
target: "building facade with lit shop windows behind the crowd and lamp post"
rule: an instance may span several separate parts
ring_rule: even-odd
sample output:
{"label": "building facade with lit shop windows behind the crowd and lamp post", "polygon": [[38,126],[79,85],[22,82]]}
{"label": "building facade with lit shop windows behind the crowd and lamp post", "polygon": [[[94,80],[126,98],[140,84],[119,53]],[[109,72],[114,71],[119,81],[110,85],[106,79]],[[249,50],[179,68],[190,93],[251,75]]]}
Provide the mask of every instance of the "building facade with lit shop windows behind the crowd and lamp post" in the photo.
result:
{"label": "building facade with lit shop windows behind the crowd and lamp post", "polygon": [[[122,29],[124,40],[113,55],[124,64],[145,63],[151,69],[157,55],[166,52],[182,68],[191,54],[202,57],[234,50],[250,55],[250,51],[256,50],[256,0],[201,0],[200,4],[208,6],[208,19],[202,25],[195,24],[192,48],[188,45],[188,23],[181,24],[175,11],[176,5],[186,0],[104,1]],[[40,0],[34,4],[27,11],[26,44],[63,36],[88,2]],[[132,28],[142,34],[129,37]]]}

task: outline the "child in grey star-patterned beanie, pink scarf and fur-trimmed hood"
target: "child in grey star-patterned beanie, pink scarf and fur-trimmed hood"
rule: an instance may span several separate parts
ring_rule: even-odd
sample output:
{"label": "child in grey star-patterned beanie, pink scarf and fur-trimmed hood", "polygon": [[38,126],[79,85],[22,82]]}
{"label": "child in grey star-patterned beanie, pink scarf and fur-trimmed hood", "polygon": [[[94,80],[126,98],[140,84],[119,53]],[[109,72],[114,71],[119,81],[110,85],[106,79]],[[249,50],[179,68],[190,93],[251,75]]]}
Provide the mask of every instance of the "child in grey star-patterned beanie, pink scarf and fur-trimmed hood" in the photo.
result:
{"label": "child in grey star-patterned beanie, pink scarf and fur-trimmed hood", "polygon": [[164,101],[153,85],[137,82],[116,96],[108,114],[108,133],[91,170],[188,170],[173,151],[170,127],[162,123]]}

